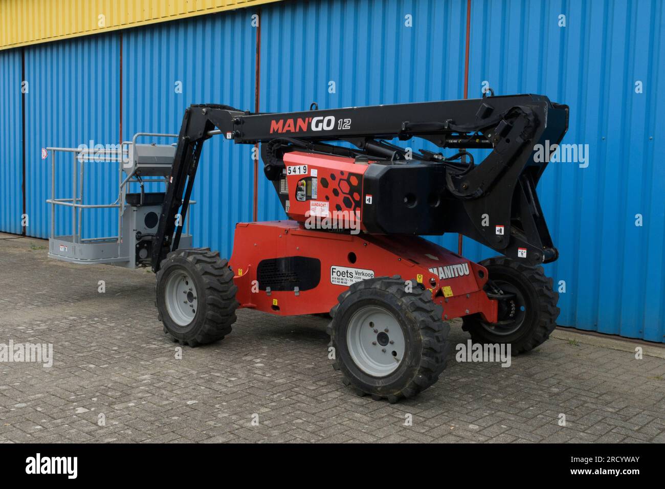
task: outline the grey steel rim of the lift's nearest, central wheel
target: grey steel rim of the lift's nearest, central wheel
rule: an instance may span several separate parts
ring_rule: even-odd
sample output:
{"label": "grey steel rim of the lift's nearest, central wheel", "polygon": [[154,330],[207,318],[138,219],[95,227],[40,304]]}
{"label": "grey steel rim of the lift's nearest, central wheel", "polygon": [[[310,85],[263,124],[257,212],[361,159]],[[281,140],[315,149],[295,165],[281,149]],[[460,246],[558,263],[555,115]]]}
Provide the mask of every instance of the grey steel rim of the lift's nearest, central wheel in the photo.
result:
{"label": "grey steel rim of the lift's nearest, central wheel", "polygon": [[383,307],[361,307],[348,322],[346,346],[356,367],[372,377],[386,377],[402,363],[406,340],[402,327]]}

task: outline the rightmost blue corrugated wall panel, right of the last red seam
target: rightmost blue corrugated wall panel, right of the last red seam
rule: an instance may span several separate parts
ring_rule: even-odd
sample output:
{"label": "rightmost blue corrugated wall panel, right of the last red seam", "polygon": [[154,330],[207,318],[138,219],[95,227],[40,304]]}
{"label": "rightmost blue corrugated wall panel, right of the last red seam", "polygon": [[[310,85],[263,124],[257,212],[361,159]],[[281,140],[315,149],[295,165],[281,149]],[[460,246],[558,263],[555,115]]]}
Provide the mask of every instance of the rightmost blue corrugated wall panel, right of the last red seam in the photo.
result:
{"label": "rightmost blue corrugated wall panel, right of the last red seam", "polygon": [[[571,108],[563,142],[589,144],[587,168],[553,162],[539,185],[561,252],[547,273],[567,289],[559,324],[664,341],[662,2],[471,5],[469,96],[480,96],[483,81],[497,94],[547,94]],[[636,214],[644,226],[635,226]],[[465,244],[469,257],[487,255]]]}

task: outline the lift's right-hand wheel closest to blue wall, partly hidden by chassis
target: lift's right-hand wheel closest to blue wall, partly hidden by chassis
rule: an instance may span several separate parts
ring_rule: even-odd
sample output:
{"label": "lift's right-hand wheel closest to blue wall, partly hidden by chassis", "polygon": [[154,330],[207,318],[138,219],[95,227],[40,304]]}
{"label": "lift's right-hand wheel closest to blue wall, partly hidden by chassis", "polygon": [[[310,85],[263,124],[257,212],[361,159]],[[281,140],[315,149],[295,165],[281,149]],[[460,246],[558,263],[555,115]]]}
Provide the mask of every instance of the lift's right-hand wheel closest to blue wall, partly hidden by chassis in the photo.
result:
{"label": "lift's right-hand wheel closest to blue wall, partly hidden by chassis", "polygon": [[543,267],[529,267],[505,256],[479,263],[487,268],[485,291],[497,297],[497,323],[487,323],[479,315],[464,317],[462,329],[471,333],[473,343],[511,344],[511,353],[525,353],[541,345],[557,327],[559,294]]}

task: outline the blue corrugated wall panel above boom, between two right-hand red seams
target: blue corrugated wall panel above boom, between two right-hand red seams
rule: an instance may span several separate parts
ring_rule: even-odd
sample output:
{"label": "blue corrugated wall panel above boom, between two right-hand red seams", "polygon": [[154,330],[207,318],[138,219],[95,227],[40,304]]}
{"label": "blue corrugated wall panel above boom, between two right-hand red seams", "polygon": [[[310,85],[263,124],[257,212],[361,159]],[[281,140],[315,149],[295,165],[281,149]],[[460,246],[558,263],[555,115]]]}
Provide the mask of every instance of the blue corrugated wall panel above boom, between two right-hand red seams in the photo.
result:
{"label": "blue corrugated wall panel above boom, between two right-hand red seams", "polygon": [[[263,111],[463,96],[466,1],[283,2],[264,7],[261,21]],[[259,179],[259,220],[283,218],[272,184]],[[456,236],[434,240],[457,247]]]}

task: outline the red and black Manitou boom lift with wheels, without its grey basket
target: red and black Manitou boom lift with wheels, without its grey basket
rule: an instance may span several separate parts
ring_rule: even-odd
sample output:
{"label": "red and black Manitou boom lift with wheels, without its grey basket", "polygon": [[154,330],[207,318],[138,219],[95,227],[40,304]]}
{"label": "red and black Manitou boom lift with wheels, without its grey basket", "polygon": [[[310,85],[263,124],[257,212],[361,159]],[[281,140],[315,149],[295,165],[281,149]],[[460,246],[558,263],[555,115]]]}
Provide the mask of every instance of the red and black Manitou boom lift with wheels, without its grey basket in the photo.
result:
{"label": "red and black Manitou boom lift with wheels, without its grey basket", "polygon": [[[556,148],[567,126],[567,106],[533,94],[266,114],[190,106],[137,259],[157,273],[164,331],[196,346],[227,335],[237,307],[330,312],[344,383],[391,402],[436,382],[449,319],[462,317],[474,342],[533,349],[559,314],[539,266],[558,256],[536,194],[547,162],[533,152],[546,140]],[[290,218],[237,224],[228,261],[180,249],[203,142],[215,134],[261,144]],[[419,138],[454,154],[418,150]],[[491,152],[476,164],[473,148]],[[473,263],[421,238],[444,233],[501,256]]]}

